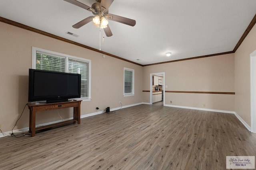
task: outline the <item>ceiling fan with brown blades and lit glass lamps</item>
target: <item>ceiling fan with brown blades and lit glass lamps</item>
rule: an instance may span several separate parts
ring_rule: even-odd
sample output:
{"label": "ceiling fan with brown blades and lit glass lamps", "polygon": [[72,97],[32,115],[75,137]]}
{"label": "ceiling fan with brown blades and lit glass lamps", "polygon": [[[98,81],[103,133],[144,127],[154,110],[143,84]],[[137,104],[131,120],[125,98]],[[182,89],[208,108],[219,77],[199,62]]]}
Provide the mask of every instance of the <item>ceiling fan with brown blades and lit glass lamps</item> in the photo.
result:
{"label": "ceiling fan with brown blades and lit glass lamps", "polygon": [[122,16],[114,15],[114,14],[108,14],[108,8],[110,7],[110,5],[112,4],[112,2],[114,0],[96,0],[96,2],[94,4],[92,4],[92,7],[87,6],[77,0],[64,0],[64,1],[74,4],[76,6],[79,6],[81,8],[84,8],[84,9],[92,12],[92,14],[94,15],[94,16],[89,16],[89,17],[85,18],[84,20],[79,21],[78,23],[72,25],[72,27],[74,27],[74,28],[80,28],[80,27],[84,26],[85,24],[89,23],[90,21],[93,21],[94,25],[96,25],[100,28],[103,28],[104,32],[106,33],[106,36],[110,37],[113,34],[108,25],[108,20],[124,23],[124,24],[130,25],[130,26],[134,26],[136,24],[136,21],[132,20],[130,18],[125,18]]}

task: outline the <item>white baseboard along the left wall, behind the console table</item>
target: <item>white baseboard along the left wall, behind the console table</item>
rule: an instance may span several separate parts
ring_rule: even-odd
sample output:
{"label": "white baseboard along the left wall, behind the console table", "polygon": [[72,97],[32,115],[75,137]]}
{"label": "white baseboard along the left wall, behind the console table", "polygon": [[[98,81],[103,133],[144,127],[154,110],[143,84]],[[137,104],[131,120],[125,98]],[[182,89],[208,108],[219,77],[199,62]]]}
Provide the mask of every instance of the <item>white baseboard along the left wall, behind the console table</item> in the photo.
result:
{"label": "white baseboard along the left wall, behind the console table", "polygon": [[[137,105],[140,105],[140,104],[143,104],[143,103],[137,103],[137,104],[131,104],[131,105],[127,105],[127,106],[122,106],[122,109],[126,108],[126,107],[137,106]],[[116,107],[114,109],[110,109],[110,111],[115,111],[115,110],[118,110],[118,109],[120,109],[120,107]],[[89,116],[94,116],[94,115],[99,115],[99,114],[102,114],[102,111],[81,115],[80,118],[82,119],[84,117],[89,117]],[[43,124],[40,124],[40,125],[36,125],[36,127],[46,126],[46,125],[50,125],[50,124],[53,124],[53,123],[59,123],[59,122],[66,121],[66,120],[71,120],[71,119],[73,119],[73,118],[71,117],[71,118],[68,118],[68,119],[52,121],[52,122],[49,122],[49,123],[43,123]],[[22,128],[22,129],[16,129],[13,132],[28,131],[28,130],[29,130],[29,127],[25,127],[25,128]],[[4,133],[6,135],[9,135],[10,133],[12,133],[12,131],[4,132]],[[5,136],[2,133],[0,133],[0,137],[5,137]]]}

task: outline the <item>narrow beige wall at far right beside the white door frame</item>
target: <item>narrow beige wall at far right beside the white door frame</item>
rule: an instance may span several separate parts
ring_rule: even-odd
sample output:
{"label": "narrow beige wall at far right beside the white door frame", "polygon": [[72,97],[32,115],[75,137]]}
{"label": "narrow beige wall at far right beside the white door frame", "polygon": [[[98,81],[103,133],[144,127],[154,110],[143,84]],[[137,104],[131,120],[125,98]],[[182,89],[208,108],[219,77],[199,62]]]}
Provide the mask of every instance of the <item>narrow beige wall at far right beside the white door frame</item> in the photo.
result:
{"label": "narrow beige wall at far right beside the white door frame", "polygon": [[235,53],[235,112],[251,126],[250,54],[256,50],[256,25]]}

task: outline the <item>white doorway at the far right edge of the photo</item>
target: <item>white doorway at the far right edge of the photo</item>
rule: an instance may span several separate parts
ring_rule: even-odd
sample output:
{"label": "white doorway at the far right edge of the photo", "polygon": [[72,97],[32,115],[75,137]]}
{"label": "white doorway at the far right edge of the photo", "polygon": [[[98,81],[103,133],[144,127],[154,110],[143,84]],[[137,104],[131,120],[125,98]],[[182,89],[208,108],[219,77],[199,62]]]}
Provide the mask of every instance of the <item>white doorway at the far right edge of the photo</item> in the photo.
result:
{"label": "white doorway at the far right edge of the photo", "polygon": [[251,132],[256,133],[256,50],[250,55]]}

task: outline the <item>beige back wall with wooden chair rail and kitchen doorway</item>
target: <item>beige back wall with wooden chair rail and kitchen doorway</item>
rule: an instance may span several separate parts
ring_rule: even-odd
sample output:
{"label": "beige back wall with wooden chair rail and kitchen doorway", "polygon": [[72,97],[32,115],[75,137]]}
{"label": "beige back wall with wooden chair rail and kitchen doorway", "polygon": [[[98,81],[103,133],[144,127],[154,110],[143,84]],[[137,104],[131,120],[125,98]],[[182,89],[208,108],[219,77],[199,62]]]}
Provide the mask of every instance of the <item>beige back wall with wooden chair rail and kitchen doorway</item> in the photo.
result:
{"label": "beige back wall with wooden chair rail and kitchen doorway", "polygon": [[[158,72],[165,72],[166,91],[234,92],[234,54],[145,66],[143,90],[150,90],[150,73]],[[149,97],[144,92],[144,102]],[[234,95],[166,92],[165,104],[234,111]]]}

